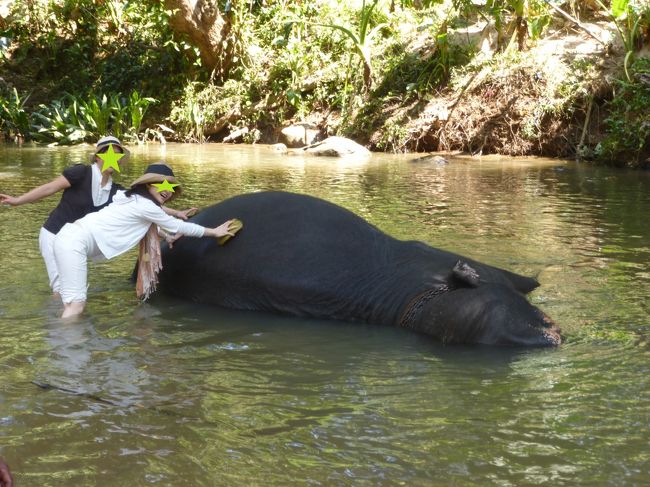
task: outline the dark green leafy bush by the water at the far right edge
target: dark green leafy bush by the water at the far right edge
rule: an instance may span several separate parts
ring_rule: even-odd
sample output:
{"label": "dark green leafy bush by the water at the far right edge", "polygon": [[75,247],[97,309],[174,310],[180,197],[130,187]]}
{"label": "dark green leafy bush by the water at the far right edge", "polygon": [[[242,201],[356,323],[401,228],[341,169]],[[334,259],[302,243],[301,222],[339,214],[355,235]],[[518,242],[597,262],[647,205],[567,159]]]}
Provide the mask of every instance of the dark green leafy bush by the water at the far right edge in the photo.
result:
{"label": "dark green leafy bush by the water at the far right edge", "polygon": [[630,76],[631,82],[617,82],[605,120],[606,137],[595,149],[605,162],[636,165],[650,156],[650,59],[636,60]]}

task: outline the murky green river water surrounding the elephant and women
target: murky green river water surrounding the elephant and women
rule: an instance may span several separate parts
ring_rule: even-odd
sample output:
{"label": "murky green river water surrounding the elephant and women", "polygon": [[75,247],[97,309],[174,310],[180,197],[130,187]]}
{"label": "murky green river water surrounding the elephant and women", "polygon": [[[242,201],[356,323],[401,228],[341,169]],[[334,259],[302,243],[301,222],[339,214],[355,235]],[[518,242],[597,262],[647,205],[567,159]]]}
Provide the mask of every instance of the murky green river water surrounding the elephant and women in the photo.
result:
{"label": "murky green river water surrounding the elephant and women", "polygon": [[[532,300],[567,342],[442,347],[404,330],[138,305],[133,253],[93,268],[84,318],[64,324],[37,244],[56,197],[2,207],[0,456],[19,485],[650,484],[649,173],[133,152],[122,180],[166,159],[182,207],[304,192],[397,237],[537,275]],[[88,153],[0,146],[0,192]]]}

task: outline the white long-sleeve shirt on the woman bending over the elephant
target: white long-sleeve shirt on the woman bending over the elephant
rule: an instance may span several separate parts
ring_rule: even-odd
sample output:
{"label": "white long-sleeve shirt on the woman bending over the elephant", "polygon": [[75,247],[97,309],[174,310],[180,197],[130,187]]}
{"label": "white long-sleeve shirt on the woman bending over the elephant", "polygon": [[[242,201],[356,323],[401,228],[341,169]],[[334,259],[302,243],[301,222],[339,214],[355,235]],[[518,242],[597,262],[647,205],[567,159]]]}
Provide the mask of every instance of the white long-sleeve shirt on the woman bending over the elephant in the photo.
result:
{"label": "white long-sleeve shirt on the woman bending over the elephant", "polygon": [[153,201],[142,196],[126,196],[118,191],[106,208],[80,218],[75,223],[86,229],[107,259],[123,254],[145,236],[153,223],[170,233],[202,237],[205,227],[169,216]]}

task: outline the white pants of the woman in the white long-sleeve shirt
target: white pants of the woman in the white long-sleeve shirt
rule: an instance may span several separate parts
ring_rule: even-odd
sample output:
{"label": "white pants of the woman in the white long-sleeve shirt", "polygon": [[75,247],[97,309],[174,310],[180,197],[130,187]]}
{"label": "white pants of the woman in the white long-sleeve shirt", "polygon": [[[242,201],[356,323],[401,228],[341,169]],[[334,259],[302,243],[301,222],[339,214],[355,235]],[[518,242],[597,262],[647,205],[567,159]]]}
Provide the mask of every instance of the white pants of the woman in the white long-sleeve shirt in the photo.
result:
{"label": "white pants of the woman in the white long-sleeve shirt", "polygon": [[64,303],[86,301],[88,257],[99,257],[92,234],[78,223],[66,223],[54,239],[59,293]]}

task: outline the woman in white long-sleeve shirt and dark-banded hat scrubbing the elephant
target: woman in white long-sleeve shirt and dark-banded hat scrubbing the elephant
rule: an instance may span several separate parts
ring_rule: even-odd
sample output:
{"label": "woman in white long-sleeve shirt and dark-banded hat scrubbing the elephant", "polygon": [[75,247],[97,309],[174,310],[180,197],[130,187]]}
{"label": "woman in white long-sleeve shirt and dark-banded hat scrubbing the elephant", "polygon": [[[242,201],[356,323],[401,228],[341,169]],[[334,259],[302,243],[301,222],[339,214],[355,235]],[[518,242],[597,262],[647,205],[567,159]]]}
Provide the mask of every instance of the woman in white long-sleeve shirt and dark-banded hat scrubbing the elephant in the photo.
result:
{"label": "woman in white long-sleeve shirt and dark-banded hat scrubbing the elephant", "polygon": [[[164,187],[175,186],[172,190]],[[74,223],[67,223],[56,236],[54,257],[60,273],[62,318],[80,314],[86,304],[87,258],[112,259],[140,242],[140,272],[146,280],[139,283],[139,294],[148,296],[156,283],[160,264],[160,244],[156,226],[170,233],[188,237],[233,236],[232,220],[216,228],[205,228],[167,215],[162,205],[181,191],[169,166],[151,164],[136,179],[131,189],[118,192],[106,208],[90,213]]]}

